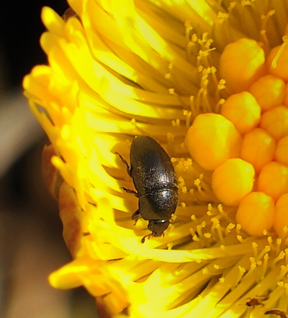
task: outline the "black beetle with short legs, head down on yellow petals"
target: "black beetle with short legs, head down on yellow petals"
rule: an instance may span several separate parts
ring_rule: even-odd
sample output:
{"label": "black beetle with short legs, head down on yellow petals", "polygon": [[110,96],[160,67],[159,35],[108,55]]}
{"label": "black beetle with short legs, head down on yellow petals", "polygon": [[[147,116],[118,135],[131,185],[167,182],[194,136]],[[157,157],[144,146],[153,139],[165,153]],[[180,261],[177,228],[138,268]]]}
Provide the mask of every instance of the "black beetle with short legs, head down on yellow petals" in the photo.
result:
{"label": "black beetle with short legs, head down on yellow petals", "polygon": [[139,198],[139,209],[132,219],[143,217],[148,220],[148,230],[152,233],[144,236],[161,236],[170,224],[171,214],[178,202],[177,178],[170,157],[160,144],[148,136],[132,141],[130,149],[131,167],[117,153],[127,166],[127,172],[133,179],[137,192],[123,188]]}

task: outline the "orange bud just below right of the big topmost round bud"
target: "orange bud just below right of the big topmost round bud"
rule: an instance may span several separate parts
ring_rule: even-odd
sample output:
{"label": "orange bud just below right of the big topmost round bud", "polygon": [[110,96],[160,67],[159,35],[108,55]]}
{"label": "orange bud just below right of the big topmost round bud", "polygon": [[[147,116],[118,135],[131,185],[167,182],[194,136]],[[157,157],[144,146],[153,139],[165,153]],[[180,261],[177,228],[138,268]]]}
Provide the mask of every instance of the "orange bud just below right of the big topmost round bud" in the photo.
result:
{"label": "orange bud just below right of the big topmost round bud", "polygon": [[271,74],[260,77],[250,87],[250,92],[263,111],[282,105],[285,90],[284,80]]}

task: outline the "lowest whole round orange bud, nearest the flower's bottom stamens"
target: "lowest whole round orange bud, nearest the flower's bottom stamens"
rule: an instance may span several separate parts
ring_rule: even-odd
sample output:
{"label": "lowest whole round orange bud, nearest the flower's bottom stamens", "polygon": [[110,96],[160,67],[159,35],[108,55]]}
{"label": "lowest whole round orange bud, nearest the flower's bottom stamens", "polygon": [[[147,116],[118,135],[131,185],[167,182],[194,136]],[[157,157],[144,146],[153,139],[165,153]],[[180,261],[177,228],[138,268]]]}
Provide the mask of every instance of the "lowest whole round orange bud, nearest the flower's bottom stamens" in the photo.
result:
{"label": "lowest whole round orange bud, nearest the flower's bottom stamens", "polygon": [[264,192],[251,192],[244,197],[236,212],[236,221],[250,235],[262,236],[274,221],[274,201]]}

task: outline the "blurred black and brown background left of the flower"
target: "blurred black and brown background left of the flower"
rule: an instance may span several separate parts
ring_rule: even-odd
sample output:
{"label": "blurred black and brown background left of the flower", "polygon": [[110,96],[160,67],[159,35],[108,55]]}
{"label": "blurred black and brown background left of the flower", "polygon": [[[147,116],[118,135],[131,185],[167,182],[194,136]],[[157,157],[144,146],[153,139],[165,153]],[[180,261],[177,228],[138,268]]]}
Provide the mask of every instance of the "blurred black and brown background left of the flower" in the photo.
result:
{"label": "blurred black and brown background left of the flower", "polygon": [[65,0],[0,1],[0,317],[96,318],[83,288],[55,290],[47,276],[71,260],[57,203],[41,173],[48,144],[22,96],[21,82],[45,64],[41,8],[62,15]]}

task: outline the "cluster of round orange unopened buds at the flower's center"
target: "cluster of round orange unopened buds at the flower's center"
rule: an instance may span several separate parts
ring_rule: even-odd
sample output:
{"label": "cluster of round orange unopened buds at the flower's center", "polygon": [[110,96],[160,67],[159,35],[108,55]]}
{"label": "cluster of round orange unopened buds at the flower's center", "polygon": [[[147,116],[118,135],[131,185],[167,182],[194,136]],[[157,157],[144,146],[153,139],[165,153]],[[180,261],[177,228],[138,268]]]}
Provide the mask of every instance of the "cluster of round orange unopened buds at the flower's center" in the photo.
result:
{"label": "cluster of round orange unopened buds at the flower's center", "polygon": [[230,96],[220,114],[198,115],[185,139],[195,161],[213,171],[217,199],[237,207],[236,221],[256,236],[272,227],[280,235],[288,227],[288,47],[283,39],[267,58],[252,39],[226,46],[219,69]]}

